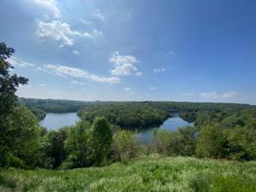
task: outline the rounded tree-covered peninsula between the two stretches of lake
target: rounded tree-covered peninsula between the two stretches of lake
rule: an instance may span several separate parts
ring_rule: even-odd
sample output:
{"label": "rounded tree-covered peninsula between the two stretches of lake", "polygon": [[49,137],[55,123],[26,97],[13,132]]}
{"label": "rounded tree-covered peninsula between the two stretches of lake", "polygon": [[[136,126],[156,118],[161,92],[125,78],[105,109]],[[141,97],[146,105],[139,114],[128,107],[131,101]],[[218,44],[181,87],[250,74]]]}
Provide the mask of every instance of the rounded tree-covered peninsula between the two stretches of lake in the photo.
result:
{"label": "rounded tree-covered peninsula between the two stretches of lake", "polygon": [[162,124],[169,116],[164,110],[143,103],[118,103],[115,105],[91,105],[79,110],[82,119],[93,121],[103,116],[108,122],[122,128],[147,128]]}

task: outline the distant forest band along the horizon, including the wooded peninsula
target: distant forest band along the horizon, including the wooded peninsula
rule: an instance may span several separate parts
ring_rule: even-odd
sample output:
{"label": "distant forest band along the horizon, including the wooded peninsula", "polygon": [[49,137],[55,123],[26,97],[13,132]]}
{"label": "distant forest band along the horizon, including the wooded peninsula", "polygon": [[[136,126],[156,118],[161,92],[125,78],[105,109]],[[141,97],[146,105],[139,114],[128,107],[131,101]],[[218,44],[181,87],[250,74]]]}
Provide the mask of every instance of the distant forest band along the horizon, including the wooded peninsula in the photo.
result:
{"label": "distant forest band along the horizon, including the wooded peninsula", "polygon": [[[166,114],[163,115],[162,111],[168,114],[178,113],[184,120],[194,122],[197,113],[201,111],[212,111],[213,113],[219,111],[239,112],[245,108],[256,108],[255,106],[247,104],[212,102],[80,102],[72,100],[28,98],[19,98],[19,102],[24,104],[27,108],[32,109],[32,113],[34,113],[38,119],[44,119],[45,114],[43,113],[78,112],[79,116],[84,115],[85,119],[90,121],[97,115],[105,116],[109,122],[120,125],[123,128],[147,128],[150,125],[161,124],[166,119]],[[39,112],[37,109],[42,111]],[[150,111],[154,111],[155,115],[154,113],[150,114]],[[138,119],[135,114],[137,112],[144,113],[144,115],[141,115],[141,118]],[[127,115],[127,113],[130,115]],[[151,116],[152,119],[150,119],[149,116]],[[165,116],[165,118],[163,118],[163,116]],[[150,122],[151,120],[152,122]]]}

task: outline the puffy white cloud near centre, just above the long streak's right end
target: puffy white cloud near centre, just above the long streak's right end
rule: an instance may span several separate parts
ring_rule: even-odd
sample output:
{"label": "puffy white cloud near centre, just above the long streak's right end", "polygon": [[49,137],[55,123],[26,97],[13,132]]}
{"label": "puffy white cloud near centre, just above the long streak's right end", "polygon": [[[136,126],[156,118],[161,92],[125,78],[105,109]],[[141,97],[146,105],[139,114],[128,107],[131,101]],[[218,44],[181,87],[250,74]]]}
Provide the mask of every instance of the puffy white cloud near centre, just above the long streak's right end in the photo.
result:
{"label": "puffy white cloud near centre, just above the long streak's right end", "polygon": [[119,51],[114,51],[111,55],[110,62],[114,63],[114,69],[109,70],[112,75],[115,76],[126,76],[126,75],[137,75],[141,76],[143,73],[137,72],[137,67],[134,63],[137,63],[137,58],[133,55],[119,55]]}

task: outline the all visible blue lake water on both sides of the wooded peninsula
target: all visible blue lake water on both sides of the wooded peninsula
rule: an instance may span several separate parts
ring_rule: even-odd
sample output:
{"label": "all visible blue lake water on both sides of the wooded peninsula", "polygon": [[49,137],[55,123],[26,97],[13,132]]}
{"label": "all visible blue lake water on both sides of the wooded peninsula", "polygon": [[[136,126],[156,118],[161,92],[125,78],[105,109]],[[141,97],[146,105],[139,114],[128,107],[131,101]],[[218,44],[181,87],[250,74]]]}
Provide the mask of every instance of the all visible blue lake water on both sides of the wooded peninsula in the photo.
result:
{"label": "all visible blue lake water on both sides of the wooded peninsula", "polygon": [[[77,113],[47,113],[46,117],[41,121],[41,125],[48,130],[58,130],[63,126],[74,125],[79,120]],[[174,114],[169,119],[160,125],[160,130],[177,131],[181,126],[194,126],[194,123],[188,123],[181,119],[177,114]],[[149,128],[137,133],[137,138],[140,143],[148,143],[151,139],[151,131],[153,128]]]}

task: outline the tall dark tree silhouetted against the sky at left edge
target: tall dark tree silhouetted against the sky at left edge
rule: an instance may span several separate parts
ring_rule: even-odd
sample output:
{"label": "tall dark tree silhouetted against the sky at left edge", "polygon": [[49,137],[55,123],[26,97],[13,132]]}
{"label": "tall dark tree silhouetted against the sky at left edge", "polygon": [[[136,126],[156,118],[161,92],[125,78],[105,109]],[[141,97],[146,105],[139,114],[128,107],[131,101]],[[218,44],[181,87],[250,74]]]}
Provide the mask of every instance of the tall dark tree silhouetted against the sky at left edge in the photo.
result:
{"label": "tall dark tree silhouetted against the sky at left edge", "polygon": [[[15,92],[20,84],[26,84],[28,79],[19,77],[16,74],[9,74],[9,69],[13,67],[9,64],[7,59],[15,53],[15,49],[7,47],[5,43],[0,43],[0,166],[6,166],[8,158],[13,154],[10,151],[12,143],[20,138],[15,137],[19,135],[18,132],[22,130],[12,125],[15,120],[14,108],[16,106],[17,96]],[[14,119],[11,119],[14,118]],[[15,131],[16,135],[11,135]]]}

